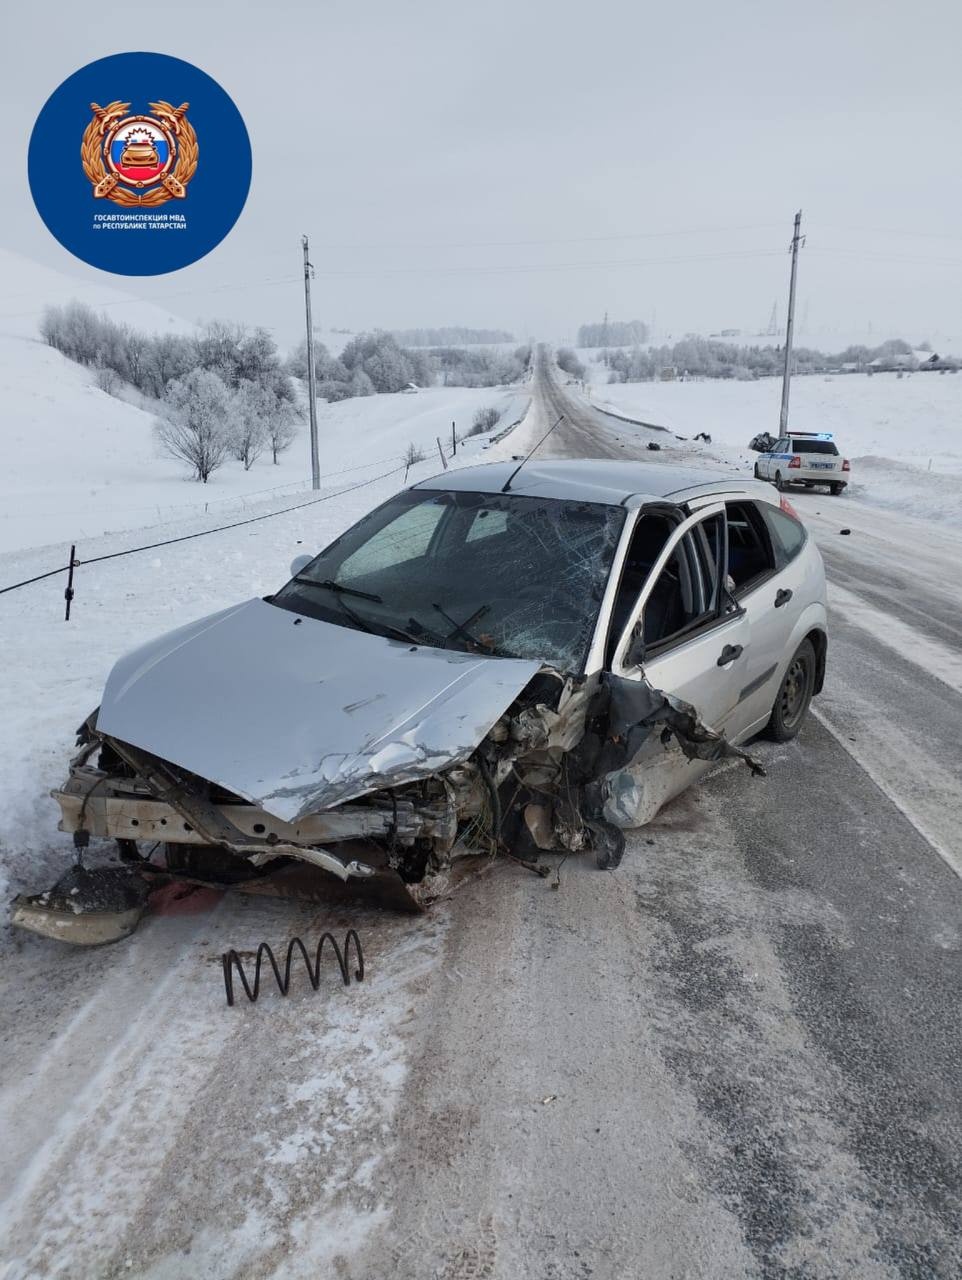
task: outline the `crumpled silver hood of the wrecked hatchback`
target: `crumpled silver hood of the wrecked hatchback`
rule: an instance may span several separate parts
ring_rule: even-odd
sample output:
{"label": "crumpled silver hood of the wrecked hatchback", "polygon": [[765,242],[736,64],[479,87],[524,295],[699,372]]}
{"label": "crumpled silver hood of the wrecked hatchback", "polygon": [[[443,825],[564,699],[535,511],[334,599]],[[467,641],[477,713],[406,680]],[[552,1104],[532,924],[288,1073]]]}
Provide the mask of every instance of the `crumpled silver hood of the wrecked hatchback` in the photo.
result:
{"label": "crumpled silver hood of the wrecked hatchback", "polygon": [[255,599],[122,658],[97,728],[290,822],[463,760],[541,666]]}

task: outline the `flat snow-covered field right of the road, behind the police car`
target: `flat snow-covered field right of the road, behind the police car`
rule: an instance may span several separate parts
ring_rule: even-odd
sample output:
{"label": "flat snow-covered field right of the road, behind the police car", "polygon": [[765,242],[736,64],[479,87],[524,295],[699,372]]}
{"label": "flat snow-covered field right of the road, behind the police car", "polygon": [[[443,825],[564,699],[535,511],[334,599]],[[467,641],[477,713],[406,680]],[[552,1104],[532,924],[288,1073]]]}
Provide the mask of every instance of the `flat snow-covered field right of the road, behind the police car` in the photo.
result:
{"label": "flat snow-covered field right of the road, behind the police car", "polygon": [[[755,461],[753,435],[778,430],[780,379],[609,384],[596,352],[580,355],[596,408],[690,439],[707,431],[714,453],[739,466]],[[794,378],[789,421],[834,434],[852,462],[849,497],[962,525],[962,374]]]}

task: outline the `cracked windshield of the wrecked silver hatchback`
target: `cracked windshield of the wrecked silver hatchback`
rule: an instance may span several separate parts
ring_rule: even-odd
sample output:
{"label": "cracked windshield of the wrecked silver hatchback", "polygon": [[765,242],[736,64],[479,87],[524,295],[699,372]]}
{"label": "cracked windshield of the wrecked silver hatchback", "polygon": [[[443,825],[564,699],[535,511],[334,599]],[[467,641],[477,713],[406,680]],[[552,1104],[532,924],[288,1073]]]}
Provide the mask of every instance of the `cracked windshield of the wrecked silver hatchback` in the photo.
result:
{"label": "cracked windshield of the wrecked silver hatchback", "polygon": [[409,489],[272,603],[398,640],[577,671],[623,522],[620,507],[600,503]]}

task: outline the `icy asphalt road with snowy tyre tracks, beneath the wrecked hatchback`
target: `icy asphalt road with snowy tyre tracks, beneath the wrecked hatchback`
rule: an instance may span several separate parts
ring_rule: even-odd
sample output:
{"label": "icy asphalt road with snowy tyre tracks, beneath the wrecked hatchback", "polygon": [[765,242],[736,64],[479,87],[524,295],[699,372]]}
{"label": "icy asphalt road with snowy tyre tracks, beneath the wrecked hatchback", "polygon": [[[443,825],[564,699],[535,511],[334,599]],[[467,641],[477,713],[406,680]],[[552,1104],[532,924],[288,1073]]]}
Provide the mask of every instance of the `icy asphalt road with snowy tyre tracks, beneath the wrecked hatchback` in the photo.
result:
{"label": "icy asphalt road with snowy tyre tracks, beneath the wrecked hatchback", "polygon": [[[536,397],[546,449],[688,458]],[[962,539],[792,500],[833,584],[817,717],[618,872],[339,915],[362,986],[232,1011],[225,946],[331,913],[225,899],[8,952],[6,1275],[962,1274]]]}

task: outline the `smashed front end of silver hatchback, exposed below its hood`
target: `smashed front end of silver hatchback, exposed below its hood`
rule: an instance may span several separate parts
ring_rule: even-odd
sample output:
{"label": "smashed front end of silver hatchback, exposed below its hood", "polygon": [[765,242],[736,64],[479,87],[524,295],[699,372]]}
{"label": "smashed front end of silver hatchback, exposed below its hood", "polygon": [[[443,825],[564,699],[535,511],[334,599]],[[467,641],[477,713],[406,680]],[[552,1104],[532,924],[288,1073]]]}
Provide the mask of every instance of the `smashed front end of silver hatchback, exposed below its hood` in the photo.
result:
{"label": "smashed front end of silver hatchback, exposed below its hood", "polygon": [[[382,776],[368,773],[343,803],[298,814],[288,805],[287,817],[276,800],[267,808],[115,737],[104,718],[95,712],[81,726],[69,776],[52,792],[78,865],[46,893],[17,899],[13,914],[14,924],[81,945],[130,933],[151,891],[170,882],[418,911],[498,855],[541,873],[542,852],[590,852],[614,868],[623,829],[650,820],[698,762],[737,755],[761,772],[643,678],[549,667],[476,746],[452,745],[449,763],[413,765],[398,751],[393,782],[391,751],[377,744]],[[124,865],[86,869],[91,841],[105,840]]]}

